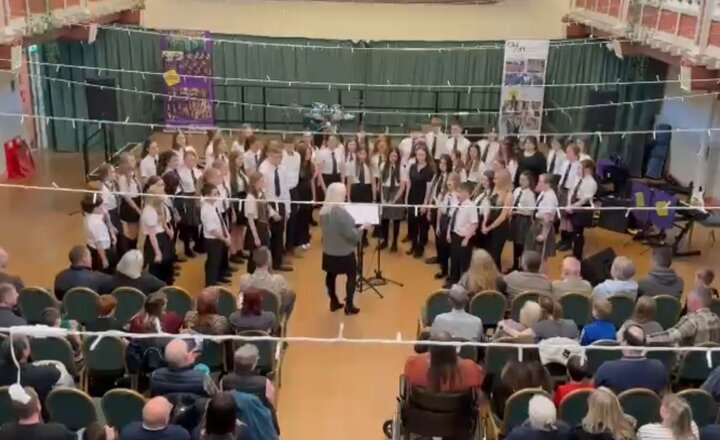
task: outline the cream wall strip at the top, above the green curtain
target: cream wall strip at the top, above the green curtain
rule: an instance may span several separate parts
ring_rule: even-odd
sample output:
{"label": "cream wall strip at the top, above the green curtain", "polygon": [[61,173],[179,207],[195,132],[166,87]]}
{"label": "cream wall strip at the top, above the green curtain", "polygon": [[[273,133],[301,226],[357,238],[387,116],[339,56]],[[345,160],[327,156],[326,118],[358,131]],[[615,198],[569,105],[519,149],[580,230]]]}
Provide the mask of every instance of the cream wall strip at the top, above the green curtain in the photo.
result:
{"label": "cream wall strip at the top, above the green curtain", "polygon": [[147,0],[143,25],[227,34],[364,40],[563,38],[569,0],[491,5]]}

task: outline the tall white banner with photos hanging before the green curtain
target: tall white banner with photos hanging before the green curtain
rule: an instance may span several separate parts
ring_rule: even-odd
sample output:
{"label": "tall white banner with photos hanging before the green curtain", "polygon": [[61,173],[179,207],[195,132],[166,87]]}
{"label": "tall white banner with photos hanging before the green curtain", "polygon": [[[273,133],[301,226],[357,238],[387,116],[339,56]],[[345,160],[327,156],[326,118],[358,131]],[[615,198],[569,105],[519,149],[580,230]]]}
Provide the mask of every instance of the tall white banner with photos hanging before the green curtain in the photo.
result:
{"label": "tall white banner with photos hanging before the green curtain", "polygon": [[500,134],[540,133],[548,40],[507,40],[500,95]]}

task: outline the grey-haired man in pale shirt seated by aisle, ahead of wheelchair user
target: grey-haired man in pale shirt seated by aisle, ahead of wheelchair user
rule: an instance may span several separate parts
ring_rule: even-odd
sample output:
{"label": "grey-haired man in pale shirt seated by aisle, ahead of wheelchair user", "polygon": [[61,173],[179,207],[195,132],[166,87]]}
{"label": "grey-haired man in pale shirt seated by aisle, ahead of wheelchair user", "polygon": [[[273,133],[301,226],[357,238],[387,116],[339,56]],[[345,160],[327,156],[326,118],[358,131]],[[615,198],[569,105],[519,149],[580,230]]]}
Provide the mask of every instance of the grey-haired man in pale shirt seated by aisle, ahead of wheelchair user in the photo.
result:
{"label": "grey-haired man in pale shirt seated by aisle, ahead of wheelchair user", "polygon": [[450,288],[448,296],[452,310],[437,315],[433,320],[431,331],[447,332],[453,338],[468,341],[484,340],[482,320],[465,311],[470,302],[468,292],[462,286],[455,284]]}

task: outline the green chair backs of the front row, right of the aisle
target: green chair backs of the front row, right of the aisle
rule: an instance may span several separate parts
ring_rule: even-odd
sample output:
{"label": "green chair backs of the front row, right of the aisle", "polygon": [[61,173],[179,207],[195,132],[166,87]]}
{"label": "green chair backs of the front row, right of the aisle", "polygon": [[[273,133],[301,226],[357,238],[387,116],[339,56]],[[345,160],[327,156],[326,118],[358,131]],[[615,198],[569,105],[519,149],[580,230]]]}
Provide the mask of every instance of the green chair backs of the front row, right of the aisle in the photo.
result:
{"label": "green chair backs of the front row, right of the aisle", "polygon": [[[510,304],[510,316],[518,320],[520,309],[528,301],[537,301],[541,294],[537,292],[523,292],[516,296]],[[432,324],[435,317],[450,311],[448,291],[439,290],[432,293],[426,300],[420,312],[418,321],[419,330]],[[579,328],[592,322],[592,299],[582,293],[566,293],[558,301],[563,306],[565,319],[574,321]],[[625,296],[609,298],[613,311],[610,320],[620,328],[633,314],[635,302]],[[664,328],[668,329],[677,323],[682,312],[682,304],[670,295],[658,295],[657,315],[655,319]],[[469,313],[477,316],[486,329],[494,328],[505,317],[508,310],[505,295],[495,290],[486,290],[475,295],[470,301]]]}

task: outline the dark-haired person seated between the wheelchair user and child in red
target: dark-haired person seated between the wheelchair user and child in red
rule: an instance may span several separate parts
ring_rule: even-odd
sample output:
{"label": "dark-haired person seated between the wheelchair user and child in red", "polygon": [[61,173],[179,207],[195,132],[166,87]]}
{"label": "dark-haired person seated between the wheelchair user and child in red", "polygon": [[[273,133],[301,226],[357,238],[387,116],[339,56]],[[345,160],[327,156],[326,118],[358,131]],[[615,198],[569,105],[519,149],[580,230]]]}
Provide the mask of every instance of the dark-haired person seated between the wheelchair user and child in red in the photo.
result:
{"label": "dark-haired person seated between the wheelchair user and child in red", "polygon": [[548,394],[553,392],[550,373],[542,364],[540,353],[535,350],[525,351],[522,362],[516,358],[509,360],[500,372],[499,379],[493,379],[492,405],[493,411],[500,417],[505,412],[507,399],[520,390],[541,388]]}

